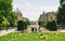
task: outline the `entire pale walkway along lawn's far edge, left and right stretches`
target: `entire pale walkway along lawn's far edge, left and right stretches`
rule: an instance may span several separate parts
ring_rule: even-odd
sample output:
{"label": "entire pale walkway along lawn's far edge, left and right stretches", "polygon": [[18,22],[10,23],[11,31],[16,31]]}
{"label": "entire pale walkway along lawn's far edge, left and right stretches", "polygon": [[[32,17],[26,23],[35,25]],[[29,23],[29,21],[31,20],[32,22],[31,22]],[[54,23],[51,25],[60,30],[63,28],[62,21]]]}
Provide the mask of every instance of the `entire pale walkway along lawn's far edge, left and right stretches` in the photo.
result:
{"label": "entire pale walkway along lawn's far edge, left and right stretches", "polygon": [[[5,36],[5,35],[8,35],[8,33],[10,33],[10,32],[16,32],[15,31],[16,30],[16,28],[14,28],[14,29],[8,29],[8,30],[1,30],[0,31],[0,37],[1,36]],[[29,32],[30,30],[28,30],[28,32]],[[30,31],[31,32],[31,31]],[[44,31],[44,30],[42,30],[41,32],[65,32],[65,30],[60,30],[60,31]]]}

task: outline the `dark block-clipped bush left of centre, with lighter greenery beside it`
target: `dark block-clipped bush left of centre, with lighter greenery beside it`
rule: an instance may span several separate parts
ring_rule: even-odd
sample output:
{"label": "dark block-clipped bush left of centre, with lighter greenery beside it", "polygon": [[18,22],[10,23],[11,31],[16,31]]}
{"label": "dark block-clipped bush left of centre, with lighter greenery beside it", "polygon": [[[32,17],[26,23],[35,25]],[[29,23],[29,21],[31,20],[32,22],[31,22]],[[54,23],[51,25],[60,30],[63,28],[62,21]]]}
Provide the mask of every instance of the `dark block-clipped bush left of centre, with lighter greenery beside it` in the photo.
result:
{"label": "dark block-clipped bush left of centre, with lighter greenery beside it", "polygon": [[17,22],[17,30],[25,30],[25,29],[27,29],[27,26],[29,26],[29,25],[30,25],[29,19],[18,20]]}

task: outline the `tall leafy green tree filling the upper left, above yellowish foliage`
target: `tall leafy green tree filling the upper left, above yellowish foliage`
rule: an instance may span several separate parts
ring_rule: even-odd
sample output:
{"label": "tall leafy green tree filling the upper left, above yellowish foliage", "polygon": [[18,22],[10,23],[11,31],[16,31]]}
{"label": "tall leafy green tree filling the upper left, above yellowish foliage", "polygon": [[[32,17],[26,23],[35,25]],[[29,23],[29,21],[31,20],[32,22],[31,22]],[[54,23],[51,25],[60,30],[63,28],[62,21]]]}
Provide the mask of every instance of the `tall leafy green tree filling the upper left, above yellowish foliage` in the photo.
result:
{"label": "tall leafy green tree filling the upper left, above yellowish foliage", "polygon": [[11,27],[15,25],[15,20],[17,19],[16,13],[12,10],[12,0],[0,0],[0,15],[6,18]]}

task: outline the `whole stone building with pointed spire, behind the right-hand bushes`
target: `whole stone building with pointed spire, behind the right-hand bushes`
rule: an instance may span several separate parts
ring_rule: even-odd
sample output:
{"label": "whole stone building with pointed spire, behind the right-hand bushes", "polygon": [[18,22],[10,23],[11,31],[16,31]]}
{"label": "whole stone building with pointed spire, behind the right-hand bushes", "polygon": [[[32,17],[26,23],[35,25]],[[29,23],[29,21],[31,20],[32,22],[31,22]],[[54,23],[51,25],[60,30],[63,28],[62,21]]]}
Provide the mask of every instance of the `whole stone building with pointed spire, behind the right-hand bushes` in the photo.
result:
{"label": "whole stone building with pointed spire, behind the right-hand bushes", "polygon": [[44,26],[49,20],[56,20],[56,14],[55,12],[48,12],[48,13],[42,13],[39,17],[39,19],[42,22],[42,26]]}

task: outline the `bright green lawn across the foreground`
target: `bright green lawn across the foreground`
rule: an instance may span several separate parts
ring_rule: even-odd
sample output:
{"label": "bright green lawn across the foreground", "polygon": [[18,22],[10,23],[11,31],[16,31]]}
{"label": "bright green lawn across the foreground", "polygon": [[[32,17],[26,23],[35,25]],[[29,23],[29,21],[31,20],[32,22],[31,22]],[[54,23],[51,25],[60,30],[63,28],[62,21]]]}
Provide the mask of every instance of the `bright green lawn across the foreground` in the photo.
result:
{"label": "bright green lawn across the foreground", "polygon": [[[21,35],[17,32],[0,37],[0,41],[65,41],[65,32],[42,32],[46,39],[40,39],[36,32]],[[56,35],[57,33],[57,35]],[[21,36],[18,36],[21,35]]]}

